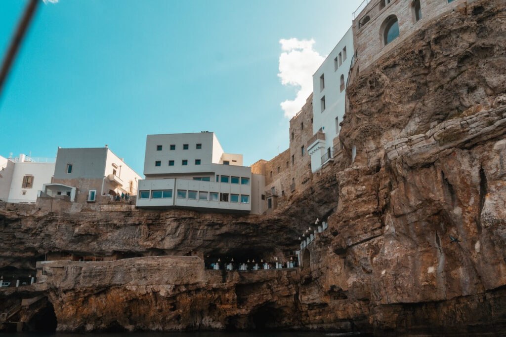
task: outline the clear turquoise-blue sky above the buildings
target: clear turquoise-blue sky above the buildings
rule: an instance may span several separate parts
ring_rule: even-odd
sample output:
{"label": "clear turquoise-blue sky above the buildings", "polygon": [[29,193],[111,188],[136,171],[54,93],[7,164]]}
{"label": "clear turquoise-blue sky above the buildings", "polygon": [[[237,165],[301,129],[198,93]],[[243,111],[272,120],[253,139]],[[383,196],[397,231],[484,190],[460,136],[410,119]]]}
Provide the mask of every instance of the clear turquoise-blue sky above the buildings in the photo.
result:
{"label": "clear turquoise-blue sky above the buildings", "polygon": [[[2,57],[26,5],[0,2]],[[244,164],[288,148],[281,39],[326,56],[359,0],[41,3],[0,97],[0,155],[105,144],[142,174],[146,134],[217,133]],[[300,61],[303,62],[304,60]]]}

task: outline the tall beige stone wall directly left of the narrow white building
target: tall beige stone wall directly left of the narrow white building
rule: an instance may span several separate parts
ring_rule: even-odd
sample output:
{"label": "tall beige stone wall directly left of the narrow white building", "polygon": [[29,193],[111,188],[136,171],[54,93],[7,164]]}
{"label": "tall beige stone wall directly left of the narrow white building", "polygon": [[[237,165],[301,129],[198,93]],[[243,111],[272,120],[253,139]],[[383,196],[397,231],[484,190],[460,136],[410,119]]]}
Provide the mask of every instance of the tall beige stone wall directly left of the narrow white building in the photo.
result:
{"label": "tall beige stone wall directly left of the narrow white building", "polygon": [[[297,116],[290,120],[290,184],[295,181],[296,190],[304,188],[313,174],[311,173],[311,156],[308,154],[308,140],[313,136],[313,94],[309,95],[306,104]],[[301,148],[304,146],[305,154]],[[293,163],[292,163],[293,156]],[[290,188],[291,189],[291,188]]]}

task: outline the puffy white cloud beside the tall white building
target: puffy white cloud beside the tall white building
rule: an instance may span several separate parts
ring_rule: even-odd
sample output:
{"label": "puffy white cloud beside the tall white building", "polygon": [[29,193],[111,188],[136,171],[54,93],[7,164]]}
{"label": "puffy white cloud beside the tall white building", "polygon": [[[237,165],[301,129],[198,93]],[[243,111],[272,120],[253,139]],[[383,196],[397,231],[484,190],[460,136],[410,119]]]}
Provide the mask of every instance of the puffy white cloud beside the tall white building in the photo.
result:
{"label": "puffy white cloud beside the tall white building", "polygon": [[313,74],[325,60],[313,50],[315,40],[299,40],[297,38],[281,39],[279,56],[279,74],[281,84],[298,88],[294,100],[281,103],[285,117],[295,116],[306,103],[306,99],[313,91]]}

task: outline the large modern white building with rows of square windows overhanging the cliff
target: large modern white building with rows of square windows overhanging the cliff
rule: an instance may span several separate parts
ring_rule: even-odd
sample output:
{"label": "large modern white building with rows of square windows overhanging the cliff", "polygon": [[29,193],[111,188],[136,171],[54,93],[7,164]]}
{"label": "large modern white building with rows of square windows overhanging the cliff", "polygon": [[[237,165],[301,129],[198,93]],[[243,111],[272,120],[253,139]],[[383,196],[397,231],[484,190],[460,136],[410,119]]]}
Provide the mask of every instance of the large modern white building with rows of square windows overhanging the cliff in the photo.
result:
{"label": "large modern white building with rows of square windows overhanging the cliff", "polygon": [[144,175],[138,207],[262,211],[265,177],[224,153],[214,132],[148,135]]}

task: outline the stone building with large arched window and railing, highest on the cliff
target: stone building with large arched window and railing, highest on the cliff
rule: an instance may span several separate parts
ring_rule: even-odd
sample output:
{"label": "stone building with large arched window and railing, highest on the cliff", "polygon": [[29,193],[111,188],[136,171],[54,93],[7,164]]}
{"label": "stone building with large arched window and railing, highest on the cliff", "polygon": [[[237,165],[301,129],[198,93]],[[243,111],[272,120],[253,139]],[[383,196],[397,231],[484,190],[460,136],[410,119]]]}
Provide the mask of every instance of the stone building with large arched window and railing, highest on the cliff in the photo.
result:
{"label": "stone building with large arched window and railing, highest on the cliff", "polygon": [[[365,70],[419,27],[473,0],[374,0],[355,12],[353,42]],[[358,13],[358,14],[357,14]]]}

